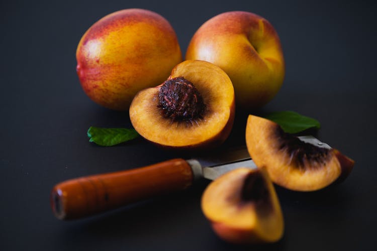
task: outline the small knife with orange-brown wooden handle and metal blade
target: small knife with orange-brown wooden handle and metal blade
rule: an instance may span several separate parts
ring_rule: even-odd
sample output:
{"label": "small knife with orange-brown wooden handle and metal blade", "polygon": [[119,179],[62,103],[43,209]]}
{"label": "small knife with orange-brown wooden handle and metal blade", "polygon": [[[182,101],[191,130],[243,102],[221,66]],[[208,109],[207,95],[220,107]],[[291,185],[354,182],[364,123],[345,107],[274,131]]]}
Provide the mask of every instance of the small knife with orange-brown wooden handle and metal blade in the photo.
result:
{"label": "small knife with orange-brown wooden handle and metal blade", "polygon": [[[312,136],[299,138],[330,149]],[[257,168],[246,147],[206,158],[172,159],[142,168],[63,181],[53,187],[50,204],[58,219],[77,219],[179,191],[203,177],[214,180],[239,167]]]}

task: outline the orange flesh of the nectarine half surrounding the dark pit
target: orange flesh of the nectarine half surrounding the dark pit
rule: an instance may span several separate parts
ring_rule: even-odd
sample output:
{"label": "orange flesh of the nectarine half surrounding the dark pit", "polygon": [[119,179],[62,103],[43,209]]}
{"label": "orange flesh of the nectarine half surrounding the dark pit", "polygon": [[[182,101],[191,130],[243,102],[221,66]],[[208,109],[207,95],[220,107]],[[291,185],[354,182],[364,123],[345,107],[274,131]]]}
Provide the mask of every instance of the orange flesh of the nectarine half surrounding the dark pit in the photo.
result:
{"label": "orange flesh of the nectarine half surrounding the dark pit", "polygon": [[163,117],[157,108],[157,86],[140,91],[132,101],[130,118],[135,130],[145,139],[167,147],[222,143],[234,120],[234,90],[229,77],[211,63],[193,60],[174,67],[169,79],[175,77],[184,77],[198,89],[206,105],[203,119],[191,124]]}

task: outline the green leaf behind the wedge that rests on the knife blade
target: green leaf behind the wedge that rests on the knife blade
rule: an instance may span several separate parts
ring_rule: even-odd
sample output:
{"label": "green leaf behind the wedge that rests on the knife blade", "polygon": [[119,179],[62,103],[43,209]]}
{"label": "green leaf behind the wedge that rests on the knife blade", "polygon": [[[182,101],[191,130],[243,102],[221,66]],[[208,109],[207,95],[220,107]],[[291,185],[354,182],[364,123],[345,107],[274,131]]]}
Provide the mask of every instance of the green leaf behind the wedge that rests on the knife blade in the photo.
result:
{"label": "green leaf behind the wedge that rests on the knife blade", "polygon": [[274,121],[284,132],[290,134],[300,133],[310,128],[319,129],[321,127],[318,120],[303,116],[294,111],[272,112],[266,115],[265,118]]}

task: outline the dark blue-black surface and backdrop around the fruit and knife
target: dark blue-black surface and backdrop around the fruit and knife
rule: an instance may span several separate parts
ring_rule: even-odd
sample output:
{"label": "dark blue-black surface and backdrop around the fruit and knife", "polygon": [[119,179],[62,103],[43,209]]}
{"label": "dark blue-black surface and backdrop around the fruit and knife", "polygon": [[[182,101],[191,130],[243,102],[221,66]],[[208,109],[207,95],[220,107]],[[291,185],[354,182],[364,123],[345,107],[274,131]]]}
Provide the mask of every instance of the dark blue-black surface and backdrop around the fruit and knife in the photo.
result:
{"label": "dark blue-black surface and backdrop around the fruit and knife", "polygon": [[[375,4],[365,1],[2,1],[0,3],[1,250],[375,250]],[[114,11],[165,17],[183,55],[202,23],[226,11],[263,16],[286,59],[280,92],[258,112],[294,110],[317,118],[318,137],[355,160],[339,186],[313,193],[277,187],[285,235],[275,244],[220,240],[200,199],[209,181],[168,196],[76,221],[59,221],[49,193],[57,182],[181,157],[142,139],[102,148],[89,126],[131,127],[127,112],[93,103],[75,72],[83,33]],[[238,113],[225,146],[244,144]]]}

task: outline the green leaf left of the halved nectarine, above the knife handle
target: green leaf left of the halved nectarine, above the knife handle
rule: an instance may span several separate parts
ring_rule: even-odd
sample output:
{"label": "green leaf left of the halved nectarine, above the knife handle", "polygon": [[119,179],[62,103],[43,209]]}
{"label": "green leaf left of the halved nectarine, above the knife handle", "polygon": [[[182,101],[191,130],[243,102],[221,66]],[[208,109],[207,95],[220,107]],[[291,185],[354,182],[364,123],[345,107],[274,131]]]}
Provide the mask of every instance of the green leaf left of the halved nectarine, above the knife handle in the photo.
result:
{"label": "green leaf left of the halved nectarine, above the knife handle", "polygon": [[139,134],[135,129],[89,127],[87,130],[89,142],[94,142],[103,147],[115,146],[133,140],[138,136]]}

